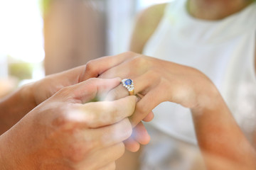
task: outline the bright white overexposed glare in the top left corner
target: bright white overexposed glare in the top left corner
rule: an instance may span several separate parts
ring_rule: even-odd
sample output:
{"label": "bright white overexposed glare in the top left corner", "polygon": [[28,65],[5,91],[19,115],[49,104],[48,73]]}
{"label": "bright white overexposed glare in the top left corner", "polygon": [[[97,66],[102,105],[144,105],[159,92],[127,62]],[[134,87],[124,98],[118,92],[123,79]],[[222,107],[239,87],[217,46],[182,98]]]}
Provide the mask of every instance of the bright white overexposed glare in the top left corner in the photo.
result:
{"label": "bright white overexposed glare in the top left corner", "polygon": [[39,0],[0,0],[0,53],[24,62],[43,61]]}

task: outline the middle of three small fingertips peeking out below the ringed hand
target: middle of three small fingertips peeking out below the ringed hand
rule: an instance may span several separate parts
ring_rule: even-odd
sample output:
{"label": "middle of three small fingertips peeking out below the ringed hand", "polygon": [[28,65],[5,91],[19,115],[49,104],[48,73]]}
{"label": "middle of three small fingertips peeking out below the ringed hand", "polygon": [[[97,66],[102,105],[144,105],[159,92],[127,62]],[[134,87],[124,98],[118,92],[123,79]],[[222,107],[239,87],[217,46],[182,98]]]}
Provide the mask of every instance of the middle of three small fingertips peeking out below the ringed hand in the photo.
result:
{"label": "middle of three small fingertips peeking out below the ringed hand", "polygon": [[148,132],[146,131],[145,126],[142,122],[140,122],[132,131],[132,137],[134,140],[139,142],[142,145],[146,145],[150,141],[150,136]]}

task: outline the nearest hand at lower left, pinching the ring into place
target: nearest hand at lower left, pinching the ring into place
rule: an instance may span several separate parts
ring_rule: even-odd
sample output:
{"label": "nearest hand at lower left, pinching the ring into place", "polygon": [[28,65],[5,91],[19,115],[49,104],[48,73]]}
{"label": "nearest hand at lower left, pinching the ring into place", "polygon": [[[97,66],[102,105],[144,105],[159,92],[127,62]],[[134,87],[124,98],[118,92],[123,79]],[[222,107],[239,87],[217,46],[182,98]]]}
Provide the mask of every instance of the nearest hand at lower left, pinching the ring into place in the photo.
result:
{"label": "nearest hand at lower left, pinching the ring into place", "polygon": [[[4,169],[114,169],[132,134],[137,98],[87,103],[120,79],[89,79],[60,89],[0,137]],[[83,104],[85,103],[85,104]]]}

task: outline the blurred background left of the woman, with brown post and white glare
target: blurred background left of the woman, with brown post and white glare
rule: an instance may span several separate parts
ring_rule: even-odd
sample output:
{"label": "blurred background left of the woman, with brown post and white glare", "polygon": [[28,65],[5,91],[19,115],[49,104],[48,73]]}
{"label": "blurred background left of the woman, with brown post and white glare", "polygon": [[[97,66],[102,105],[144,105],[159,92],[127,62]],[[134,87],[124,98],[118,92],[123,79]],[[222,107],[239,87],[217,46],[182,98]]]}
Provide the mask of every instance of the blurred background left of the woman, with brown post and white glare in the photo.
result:
{"label": "blurred background left of the woman, with brown post and white glare", "polygon": [[168,0],[0,0],[0,98],[48,74],[129,50],[139,11]]}

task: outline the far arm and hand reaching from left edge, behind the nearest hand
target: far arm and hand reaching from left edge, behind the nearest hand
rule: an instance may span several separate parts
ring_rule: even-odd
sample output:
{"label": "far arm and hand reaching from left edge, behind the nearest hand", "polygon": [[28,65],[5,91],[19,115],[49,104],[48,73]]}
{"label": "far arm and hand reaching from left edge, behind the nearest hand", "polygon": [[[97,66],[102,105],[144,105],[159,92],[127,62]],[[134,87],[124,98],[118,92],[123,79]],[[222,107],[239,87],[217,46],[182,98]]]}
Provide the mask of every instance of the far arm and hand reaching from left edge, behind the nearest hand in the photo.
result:
{"label": "far arm and hand reaching from left edge, behind the nearest hand", "polygon": [[[85,73],[85,67],[76,67],[50,75],[45,79],[23,86],[14,94],[3,98],[0,101],[0,134],[9,130],[26,113],[50,98],[50,96],[53,96],[63,87],[86,80],[81,78],[84,74],[90,74],[90,71]],[[87,77],[87,79],[90,79],[90,77]]]}

